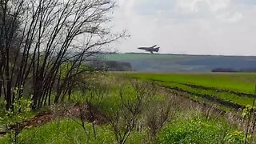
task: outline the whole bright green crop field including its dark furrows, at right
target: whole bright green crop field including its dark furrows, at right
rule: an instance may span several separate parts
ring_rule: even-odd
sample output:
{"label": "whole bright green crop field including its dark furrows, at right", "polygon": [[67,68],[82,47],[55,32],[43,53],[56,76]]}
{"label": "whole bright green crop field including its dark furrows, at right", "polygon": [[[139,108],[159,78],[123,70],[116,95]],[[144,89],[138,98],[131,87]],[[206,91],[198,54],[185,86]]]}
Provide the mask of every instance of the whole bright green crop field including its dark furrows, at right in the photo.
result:
{"label": "whole bright green crop field including its dark furrows, at right", "polygon": [[252,105],[254,101],[256,74],[130,73],[126,76],[185,92],[197,101],[214,102],[235,109]]}

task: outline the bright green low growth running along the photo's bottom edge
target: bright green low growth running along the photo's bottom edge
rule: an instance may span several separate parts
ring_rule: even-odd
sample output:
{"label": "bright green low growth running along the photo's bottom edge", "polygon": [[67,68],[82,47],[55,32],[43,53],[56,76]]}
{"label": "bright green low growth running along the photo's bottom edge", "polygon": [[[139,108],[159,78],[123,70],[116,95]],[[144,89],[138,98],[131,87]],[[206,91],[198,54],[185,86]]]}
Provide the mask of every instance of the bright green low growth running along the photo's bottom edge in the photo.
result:
{"label": "bright green low growth running along the photo's bottom edge", "polygon": [[[230,127],[227,122],[219,119],[206,119],[203,115],[194,115],[193,118],[175,118],[171,124],[166,124],[160,130],[157,139],[150,143],[242,143],[242,131]],[[19,136],[20,143],[114,143],[116,142],[111,126],[96,126],[97,138],[91,124],[86,122],[85,131],[72,119],[62,119],[50,122],[44,126],[23,130]],[[148,131],[134,130],[126,143],[149,142]],[[32,141],[33,139],[33,141]],[[2,138],[1,143],[9,143],[8,137]]]}

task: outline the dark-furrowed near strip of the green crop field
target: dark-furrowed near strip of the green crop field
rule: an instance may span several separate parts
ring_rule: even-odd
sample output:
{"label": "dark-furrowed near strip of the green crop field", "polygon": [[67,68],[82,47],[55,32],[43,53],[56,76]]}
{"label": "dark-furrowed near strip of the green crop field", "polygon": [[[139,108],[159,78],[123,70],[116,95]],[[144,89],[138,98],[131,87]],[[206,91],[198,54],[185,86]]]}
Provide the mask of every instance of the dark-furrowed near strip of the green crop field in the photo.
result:
{"label": "dark-furrowed near strip of the green crop field", "polygon": [[234,109],[242,109],[247,105],[252,105],[254,101],[254,94],[246,94],[234,90],[217,89],[215,87],[199,86],[191,83],[165,82],[157,78],[142,79],[154,82],[158,86],[189,94],[191,99],[198,98],[200,102],[206,100]]}

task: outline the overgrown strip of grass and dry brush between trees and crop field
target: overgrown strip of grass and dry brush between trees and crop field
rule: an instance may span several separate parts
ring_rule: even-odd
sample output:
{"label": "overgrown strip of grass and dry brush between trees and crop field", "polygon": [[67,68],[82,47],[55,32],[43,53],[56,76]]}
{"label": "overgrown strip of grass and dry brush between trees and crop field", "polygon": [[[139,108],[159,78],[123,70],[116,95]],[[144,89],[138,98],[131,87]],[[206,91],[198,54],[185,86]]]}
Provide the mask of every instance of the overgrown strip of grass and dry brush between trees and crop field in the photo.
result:
{"label": "overgrown strip of grass and dry brush between trees and crop field", "polygon": [[[150,82],[98,74],[92,77],[86,78],[70,99],[47,108],[50,114],[64,115],[57,114],[54,120],[41,126],[18,130],[17,142],[242,143],[245,140],[243,130],[213,108],[200,106]],[[10,143],[14,135],[14,130],[10,130],[0,142]],[[248,140],[251,138],[249,134]]]}

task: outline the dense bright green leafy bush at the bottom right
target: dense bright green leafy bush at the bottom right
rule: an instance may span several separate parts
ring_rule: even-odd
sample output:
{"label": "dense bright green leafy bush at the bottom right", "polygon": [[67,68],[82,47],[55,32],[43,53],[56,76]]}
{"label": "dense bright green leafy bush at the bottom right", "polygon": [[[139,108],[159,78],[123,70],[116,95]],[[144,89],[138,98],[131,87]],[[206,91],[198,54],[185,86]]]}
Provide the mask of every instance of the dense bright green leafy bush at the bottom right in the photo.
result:
{"label": "dense bright green leafy bush at the bottom right", "polygon": [[242,143],[243,133],[218,119],[179,120],[160,131],[157,143]]}

